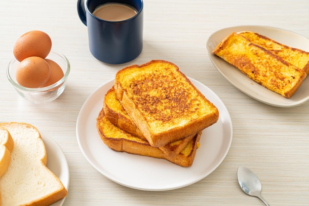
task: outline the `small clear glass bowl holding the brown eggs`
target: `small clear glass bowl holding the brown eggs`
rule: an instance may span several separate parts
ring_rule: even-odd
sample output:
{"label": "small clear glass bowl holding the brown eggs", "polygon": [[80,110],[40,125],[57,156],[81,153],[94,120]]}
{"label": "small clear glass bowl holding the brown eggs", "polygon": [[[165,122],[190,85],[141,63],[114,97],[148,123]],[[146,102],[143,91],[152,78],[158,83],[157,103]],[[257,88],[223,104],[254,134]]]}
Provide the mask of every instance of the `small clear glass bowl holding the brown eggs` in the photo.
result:
{"label": "small clear glass bowl holding the brown eggs", "polygon": [[41,88],[28,88],[19,85],[15,78],[15,73],[19,61],[15,58],[10,61],[7,66],[6,75],[8,80],[11,82],[17,93],[23,97],[24,99],[28,100],[32,103],[48,103],[55,99],[57,99],[64,91],[66,87],[66,80],[70,73],[70,63],[69,60],[60,53],[56,53],[51,51],[46,59],[50,59],[56,62],[61,69],[63,70],[64,76],[57,81],[56,83]]}

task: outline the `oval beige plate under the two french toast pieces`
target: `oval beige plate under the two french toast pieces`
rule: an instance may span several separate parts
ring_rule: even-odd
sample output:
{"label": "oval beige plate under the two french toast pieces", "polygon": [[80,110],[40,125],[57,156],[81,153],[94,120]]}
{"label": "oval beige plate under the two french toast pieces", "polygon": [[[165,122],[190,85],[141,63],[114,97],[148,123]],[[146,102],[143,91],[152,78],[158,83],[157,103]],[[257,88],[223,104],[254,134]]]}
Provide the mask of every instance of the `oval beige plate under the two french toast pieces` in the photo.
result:
{"label": "oval beige plate under the two french toast pieces", "polygon": [[290,99],[287,99],[251,80],[240,70],[214,55],[215,47],[232,32],[251,31],[265,35],[287,46],[309,51],[309,39],[300,34],[267,26],[237,26],[219,30],[211,34],[207,41],[208,56],[216,69],[237,89],[249,97],[277,107],[293,107],[309,100],[309,78],[306,78],[300,88]]}

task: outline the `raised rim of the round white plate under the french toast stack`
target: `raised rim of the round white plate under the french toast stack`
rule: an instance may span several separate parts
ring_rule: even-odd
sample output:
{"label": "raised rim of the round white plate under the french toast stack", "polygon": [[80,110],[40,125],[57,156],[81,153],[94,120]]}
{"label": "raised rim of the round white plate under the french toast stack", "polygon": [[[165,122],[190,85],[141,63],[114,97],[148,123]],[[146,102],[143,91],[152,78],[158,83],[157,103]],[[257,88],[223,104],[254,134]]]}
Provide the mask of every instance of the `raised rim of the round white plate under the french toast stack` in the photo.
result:
{"label": "raised rim of the round white plate under the french toast stack", "polygon": [[[92,160],[90,159],[90,157],[88,157],[88,154],[87,154],[88,152],[85,151],[85,148],[84,148],[83,145],[82,145],[82,141],[84,141],[85,138],[82,137],[82,134],[81,134],[81,133],[85,133],[85,132],[82,131],[82,129],[81,129],[80,126],[81,126],[82,123],[84,123],[83,120],[82,120],[82,117],[84,117],[84,115],[85,115],[84,112],[87,112],[87,106],[88,106],[87,104],[88,104],[88,103],[91,103],[92,99],[95,99],[94,95],[95,95],[97,92],[100,92],[101,90],[108,90],[108,89],[110,89],[110,88],[106,89],[106,88],[104,88],[104,87],[107,87],[108,85],[111,85],[111,87],[112,87],[113,84],[114,84],[114,78],[111,79],[111,80],[109,80],[109,81],[107,81],[107,82],[105,82],[104,84],[100,85],[97,89],[95,89],[95,90],[89,95],[89,97],[85,100],[85,102],[84,102],[83,105],[81,106],[80,111],[79,111],[78,116],[77,116],[77,123],[76,123],[77,143],[78,143],[79,149],[81,150],[81,153],[83,154],[83,156],[85,157],[85,159],[90,163],[90,165],[91,165],[95,170],[97,170],[99,173],[101,173],[103,176],[105,176],[106,178],[110,179],[110,180],[113,181],[113,182],[116,182],[117,184],[123,185],[123,186],[125,186],[125,187],[129,187],[129,188],[137,189],[137,190],[144,190],[144,191],[167,191],[167,190],[174,190],[174,189],[186,187],[186,186],[189,186],[189,185],[191,185],[191,184],[193,184],[193,183],[195,183],[195,182],[197,182],[197,181],[200,181],[201,179],[205,178],[205,177],[208,176],[210,173],[212,173],[213,171],[215,171],[215,170],[222,164],[222,162],[224,161],[224,159],[226,158],[226,156],[227,156],[227,154],[228,154],[228,152],[229,152],[229,150],[230,150],[230,148],[231,148],[231,145],[232,145],[232,119],[231,119],[230,113],[229,113],[227,107],[225,106],[225,104],[222,102],[222,100],[221,100],[210,88],[208,88],[206,85],[202,84],[201,82],[199,82],[199,81],[197,81],[197,80],[195,80],[195,79],[193,79],[193,78],[190,78],[190,77],[188,77],[188,78],[192,81],[192,83],[193,83],[194,85],[195,85],[195,83],[196,83],[196,84],[199,84],[199,86],[202,86],[202,87],[204,87],[205,89],[209,90],[209,91],[212,93],[213,98],[216,98],[217,101],[220,101],[221,110],[224,110],[224,112],[226,113],[226,116],[227,116],[227,119],[225,119],[225,121],[227,120],[227,122],[228,122],[228,126],[226,126],[226,127],[228,127],[229,130],[227,129],[228,131],[224,131],[224,132],[225,132],[226,134],[228,134],[228,135],[226,135],[226,136],[229,136],[229,137],[224,137],[224,135],[223,135],[223,139],[224,139],[225,141],[227,141],[227,139],[228,139],[228,141],[225,142],[225,145],[227,145],[227,146],[226,146],[226,150],[224,151],[224,154],[222,155],[222,157],[220,156],[220,157],[221,157],[220,161],[216,162],[216,165],[212,168],[212,170],[206,172],[205,175],[201,175],[200,178],[194,179],[194,181],[190,181],[190,182],[188,182],[188,183],[186,183],[186,184],[177,185],[177,186],[169,186],[169,185],[168,185],[168,187],[165,186],[165,187],[161,187],[161,188],[154,188],[154,187],[151,187],[151,186],[147,186],[147,187],[141,187],[141,186],[139,186],[139,187],[138,187],[138,186],[134,186],[134,185],[129,185],[129,184],[126,184],[126,183],[121,182],[121,180],[119,180],[119,179],[115,179],[115,178],[109,176],[109,175],[107,174],[108,172],[105,172],[105,171],[100,170],[100,168],[99,168],[95,163],[92,162]],[[102,95],[102,97],[97,97],[97,98],[98,98],[98,100],[102,100],[102,102],[100,102],[100,103],[102,103],[102,105],[103,105],[104,94]],[[88,111],[88,113],[90,113],[90,112]],[[97,113],[99,113],[99,111],[97,111]],[[88,115],[90,116],[90,114],[88,114]],[[219,117],[219,118],[220,118],[220,117]],[[222,121],[222,120],[221,120],[221,121]],[[222,127],[223,127],[223,129],[224,129],[224,125],[223,125]],[[221,150],[222,150],[222,149],[220,149],[219,152],[221,152]],[[91,157],[92,157],[92,156],[91,156]],[[154,159],[155,159],[155,158],[154,158]],[[216,160],[216,159],[214,158],[214,160]],[[172,164],[172,163],[171,163],[171,164]],[[180,167],[180,166],[177,166],[177,167]],[[188,168],[187,168],[187,169],[188,169]]]}

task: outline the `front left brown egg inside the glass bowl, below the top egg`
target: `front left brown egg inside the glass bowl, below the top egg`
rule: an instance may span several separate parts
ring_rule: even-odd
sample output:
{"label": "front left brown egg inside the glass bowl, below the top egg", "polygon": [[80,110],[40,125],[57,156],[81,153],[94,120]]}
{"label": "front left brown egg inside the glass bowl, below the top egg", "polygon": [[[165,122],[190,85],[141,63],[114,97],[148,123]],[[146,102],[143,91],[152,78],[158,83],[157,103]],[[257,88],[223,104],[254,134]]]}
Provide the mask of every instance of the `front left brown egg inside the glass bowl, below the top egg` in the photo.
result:
{"label": "front left brown egg inside the glass bowl, below the top egg", "polygon": [[50,77],[48,63],[40,57],[28,57],[16,69],[16,81],[28,88],[42,87]]}

